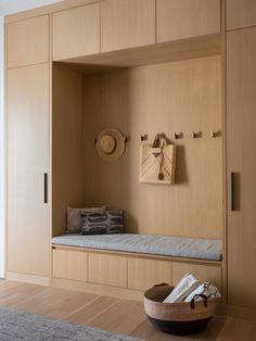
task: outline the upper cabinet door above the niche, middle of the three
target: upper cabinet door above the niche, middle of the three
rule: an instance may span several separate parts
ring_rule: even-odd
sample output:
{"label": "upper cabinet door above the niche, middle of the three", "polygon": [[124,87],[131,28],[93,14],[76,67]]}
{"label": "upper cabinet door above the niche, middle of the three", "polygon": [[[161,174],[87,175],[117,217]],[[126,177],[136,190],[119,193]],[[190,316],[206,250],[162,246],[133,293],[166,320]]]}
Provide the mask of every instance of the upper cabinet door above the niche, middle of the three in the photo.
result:
{"label": "upper cabinet door above the niche, middle of the three", "polygon": [[155,43],[155,0],[101,3],[101,51]]}

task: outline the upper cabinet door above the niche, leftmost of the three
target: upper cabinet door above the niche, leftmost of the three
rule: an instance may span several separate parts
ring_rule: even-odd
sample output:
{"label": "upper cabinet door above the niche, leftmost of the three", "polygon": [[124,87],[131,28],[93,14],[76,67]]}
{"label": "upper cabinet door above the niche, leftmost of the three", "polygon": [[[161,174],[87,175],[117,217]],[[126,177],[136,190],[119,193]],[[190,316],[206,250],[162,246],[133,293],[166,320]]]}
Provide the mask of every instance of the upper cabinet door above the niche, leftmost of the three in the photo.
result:
{"label": "upper cabinet door above the niche, leftmost of the three", "polygon": [[100,52],[100,7],[98,3],[53,14],[53,60]]}

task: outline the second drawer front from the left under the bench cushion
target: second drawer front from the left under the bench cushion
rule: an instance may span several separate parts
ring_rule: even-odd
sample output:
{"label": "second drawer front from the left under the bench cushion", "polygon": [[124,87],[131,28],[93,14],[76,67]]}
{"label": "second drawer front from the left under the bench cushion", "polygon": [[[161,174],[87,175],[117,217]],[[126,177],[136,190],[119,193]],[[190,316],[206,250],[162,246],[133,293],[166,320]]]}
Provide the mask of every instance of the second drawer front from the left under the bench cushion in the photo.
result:
{"label": "second drawer front from the left under the bench cushion", "polygon": [[127,258],[89,253],[89,282],[127,288]]}

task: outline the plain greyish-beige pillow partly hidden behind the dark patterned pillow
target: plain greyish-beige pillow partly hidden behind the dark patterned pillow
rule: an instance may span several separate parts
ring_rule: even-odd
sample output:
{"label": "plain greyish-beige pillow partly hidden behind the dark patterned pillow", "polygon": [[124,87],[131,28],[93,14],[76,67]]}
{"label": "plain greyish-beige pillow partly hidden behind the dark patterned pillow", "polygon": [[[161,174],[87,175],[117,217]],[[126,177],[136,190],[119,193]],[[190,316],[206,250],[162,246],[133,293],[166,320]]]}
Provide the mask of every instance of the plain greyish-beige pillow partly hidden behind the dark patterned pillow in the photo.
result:
{"label": "plain greyish-beige pillow partly hidden behind the dark patterned pillow", "polygon": [[94,212],[105,212],[106,207],[87,207],[87,209],[76,209],[76,207],[66,207],[67,215],[67,233],[80,233],[81,231],[81,214],[94,213]]}

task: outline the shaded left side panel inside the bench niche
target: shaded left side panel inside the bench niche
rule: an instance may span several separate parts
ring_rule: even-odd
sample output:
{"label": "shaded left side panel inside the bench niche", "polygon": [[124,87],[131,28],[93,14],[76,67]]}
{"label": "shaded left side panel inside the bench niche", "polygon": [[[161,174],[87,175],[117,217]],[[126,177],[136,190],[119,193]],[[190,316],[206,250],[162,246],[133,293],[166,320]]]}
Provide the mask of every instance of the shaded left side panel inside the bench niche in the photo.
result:
{"label": "shaded left side panel inside the bench niche", "polygon": [[81,76],[52,68],[52,235],[65,233],[66,207],[82,206]]}

